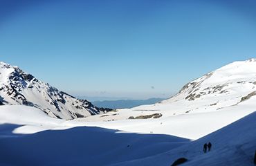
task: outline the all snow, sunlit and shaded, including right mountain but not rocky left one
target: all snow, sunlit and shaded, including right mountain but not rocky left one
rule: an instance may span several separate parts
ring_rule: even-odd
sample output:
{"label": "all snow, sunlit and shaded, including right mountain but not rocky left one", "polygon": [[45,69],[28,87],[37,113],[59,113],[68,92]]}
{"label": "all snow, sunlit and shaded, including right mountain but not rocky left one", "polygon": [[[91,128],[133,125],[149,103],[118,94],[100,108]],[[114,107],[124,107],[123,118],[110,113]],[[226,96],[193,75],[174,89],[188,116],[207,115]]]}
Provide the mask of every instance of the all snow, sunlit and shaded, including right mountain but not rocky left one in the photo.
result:
{"label": "all snow, sunlit and shaded, including right mountain but not rocky left one", "polygon": [[[4,80],[4,75],[0,75]],[[196,79],[174,97],[86,118],[0,106],[0,165],[253,165],[256,60]],[[203,153],[203,144],[212,150]]]}

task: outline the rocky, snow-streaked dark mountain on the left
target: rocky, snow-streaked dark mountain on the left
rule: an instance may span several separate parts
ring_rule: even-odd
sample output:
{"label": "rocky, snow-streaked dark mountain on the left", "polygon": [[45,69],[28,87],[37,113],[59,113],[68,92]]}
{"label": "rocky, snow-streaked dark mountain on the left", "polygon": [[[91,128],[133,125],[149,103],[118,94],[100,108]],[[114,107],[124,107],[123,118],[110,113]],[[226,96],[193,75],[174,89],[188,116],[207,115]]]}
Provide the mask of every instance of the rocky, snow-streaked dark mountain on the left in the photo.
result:
{"label": "rocky, snow-streaked dark mountain on the left", "polygon": [[83,118],[110,111],[79,100],[37,80],[17,66],[0,62],[0,104],[37,107],[53,118]]}

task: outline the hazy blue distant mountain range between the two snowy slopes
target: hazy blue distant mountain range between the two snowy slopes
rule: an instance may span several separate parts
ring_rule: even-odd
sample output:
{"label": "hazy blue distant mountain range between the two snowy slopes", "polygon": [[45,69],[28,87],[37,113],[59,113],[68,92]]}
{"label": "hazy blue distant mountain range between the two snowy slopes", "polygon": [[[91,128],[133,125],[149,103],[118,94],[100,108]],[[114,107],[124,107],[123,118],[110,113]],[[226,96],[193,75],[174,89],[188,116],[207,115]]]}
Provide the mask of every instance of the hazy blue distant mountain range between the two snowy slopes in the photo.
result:
{"label": "hazy blue distant mountain range between the two snowy slopes", "polygon": [[161,102],[164,98],[149,98],[147,100],[104,100],[92,102],[97,107],[107,107],[111,109],[131,109],[144,104],[154,104]]}

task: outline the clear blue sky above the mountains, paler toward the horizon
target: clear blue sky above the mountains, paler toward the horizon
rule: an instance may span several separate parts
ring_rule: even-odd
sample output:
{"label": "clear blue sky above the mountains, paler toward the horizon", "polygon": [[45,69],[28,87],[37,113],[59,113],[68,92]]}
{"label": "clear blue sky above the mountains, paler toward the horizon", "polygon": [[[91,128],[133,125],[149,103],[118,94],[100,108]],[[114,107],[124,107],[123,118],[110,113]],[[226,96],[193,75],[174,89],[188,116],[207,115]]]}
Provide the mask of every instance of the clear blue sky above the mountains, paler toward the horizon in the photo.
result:
{"label": "clear blue sky above the mountains, paler toward the horizon", "polygon": [[0,0],[0,61],[72,95],[166,98],[250,57],[255,0]]}

